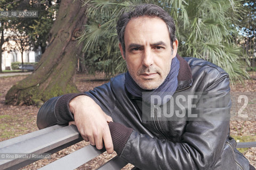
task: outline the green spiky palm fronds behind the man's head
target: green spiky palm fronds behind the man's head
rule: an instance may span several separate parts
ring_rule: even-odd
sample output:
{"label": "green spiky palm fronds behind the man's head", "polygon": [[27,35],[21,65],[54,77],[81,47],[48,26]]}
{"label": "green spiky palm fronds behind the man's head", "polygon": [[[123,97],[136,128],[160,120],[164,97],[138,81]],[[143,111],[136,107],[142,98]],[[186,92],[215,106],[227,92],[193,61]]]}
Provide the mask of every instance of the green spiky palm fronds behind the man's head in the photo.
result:
{"label": "green spiky palm fronds behind the man's head", "polygon": [[[203,58],[226,70],[231,80],[247,77],[241,69],[242,49],[234,42],[236,20],[241,17],[241,0],[94,0],[86,1],[88,24],[79,37],[87,65],[109,75],[126,70],[115,30],[119,16],[130,6],[152,3],[170,13],[177,26],[179,54]],[[92,58],[93,60],[89,60]]]}

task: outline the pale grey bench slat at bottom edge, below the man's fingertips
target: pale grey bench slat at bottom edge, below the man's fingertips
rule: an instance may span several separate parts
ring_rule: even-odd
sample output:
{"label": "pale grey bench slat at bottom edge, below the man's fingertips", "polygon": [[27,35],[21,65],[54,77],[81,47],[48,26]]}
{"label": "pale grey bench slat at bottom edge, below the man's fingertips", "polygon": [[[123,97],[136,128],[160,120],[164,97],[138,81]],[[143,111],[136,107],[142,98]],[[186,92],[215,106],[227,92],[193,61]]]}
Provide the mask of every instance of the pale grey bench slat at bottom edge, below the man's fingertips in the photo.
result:
{"label": "pale grey bench slat at bottom edge, below the man's fingertips", "polygon": [[98,150],[97,148],[88,145],[84,148],[81,148],[73,153],[62,157],[58,160],[55,160],[53,163],[45,165],[44,167],[40,168],[41,170],[45,169],[62,169],[62,170],[69,170],[75,169],[89,160],[97,157],[98,155],[102,154],[105,149]]}

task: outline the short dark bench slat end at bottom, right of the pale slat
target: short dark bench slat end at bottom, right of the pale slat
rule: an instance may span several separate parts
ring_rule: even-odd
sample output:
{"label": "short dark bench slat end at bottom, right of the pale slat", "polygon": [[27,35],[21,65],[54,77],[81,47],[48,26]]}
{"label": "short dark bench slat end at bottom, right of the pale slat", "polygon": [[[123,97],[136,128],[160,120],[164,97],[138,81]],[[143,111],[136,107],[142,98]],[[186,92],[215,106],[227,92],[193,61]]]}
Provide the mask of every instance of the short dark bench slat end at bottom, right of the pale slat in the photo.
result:
{"label": "short dark bench slat end at bottom, right of the pale slat", "polygon": [[123,168],[127,163],[120,157],[115,156],[111,160],[109,160],[106,164],[102,165],[97,170],[113,170],[113,169],[121,169]]}

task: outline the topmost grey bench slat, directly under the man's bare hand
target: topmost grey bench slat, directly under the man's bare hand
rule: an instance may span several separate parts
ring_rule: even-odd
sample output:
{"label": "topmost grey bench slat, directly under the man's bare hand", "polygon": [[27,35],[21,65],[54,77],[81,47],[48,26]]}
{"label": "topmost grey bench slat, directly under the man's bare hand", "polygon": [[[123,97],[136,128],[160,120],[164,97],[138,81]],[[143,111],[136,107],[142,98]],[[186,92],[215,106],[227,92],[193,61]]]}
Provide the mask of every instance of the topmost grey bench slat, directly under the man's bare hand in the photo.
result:
{"label": "topmost grey bench slat, directly under the man's bare hand", "polygon": [[[43,129],[44,130],[44,129]],[[42,130],[39,130],[42,131]],[[63,128],[58,128],[51,133],[43,133],[41,135],[28,135],[28,138],[23,139],[20,142],[14,142],[4,148],[0,148],[0,153],[28,153],[28,154],[42,154],[45,152],[50,152],[55,150],[66,143],[72,142],[74,140],[79,140],[81,135],[79,134],[76,126],[65,126]],[[82,138],[80,139],[80,141]],[[77,142],[77,141],[76,141]],[[0,169],[8,168],[13,165],[17,165],[21,162],[25,162],[26,159],[1,159]],[[36,161],[36,160],[35,160]],[[35,162],[34,161],[34,162]],[[29,160],[31,163],[31,160]]]}

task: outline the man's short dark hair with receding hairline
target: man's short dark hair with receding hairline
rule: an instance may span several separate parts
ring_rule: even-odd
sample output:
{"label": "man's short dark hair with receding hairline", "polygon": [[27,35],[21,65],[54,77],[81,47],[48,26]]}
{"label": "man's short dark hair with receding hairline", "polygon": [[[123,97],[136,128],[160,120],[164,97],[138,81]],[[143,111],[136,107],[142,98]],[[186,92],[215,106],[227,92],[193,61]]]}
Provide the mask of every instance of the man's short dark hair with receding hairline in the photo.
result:
{"label": "man's short dark hair with receding hairline", "polygon": [[158,17],[162,19],[168,28],[169,36],[171,40],[171,46],[173,41],[175,41],[175,24],[172,17],[163,10],[163,8],[154,5],[154,4],[141,4],[133,7],[129,12],[123,13],[119,20],[117,21],[116,30],[119,42],[122,45],[123,51],[125,53],[125,44],[124,44],[124,31],[126,25],[132,18],[138,18],[140,16],[150,16],[150,17]]}

